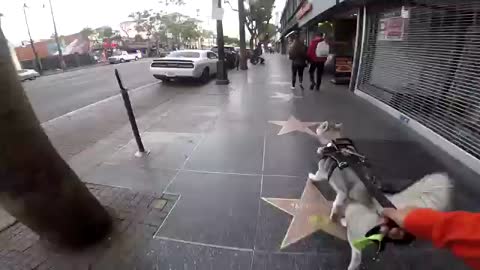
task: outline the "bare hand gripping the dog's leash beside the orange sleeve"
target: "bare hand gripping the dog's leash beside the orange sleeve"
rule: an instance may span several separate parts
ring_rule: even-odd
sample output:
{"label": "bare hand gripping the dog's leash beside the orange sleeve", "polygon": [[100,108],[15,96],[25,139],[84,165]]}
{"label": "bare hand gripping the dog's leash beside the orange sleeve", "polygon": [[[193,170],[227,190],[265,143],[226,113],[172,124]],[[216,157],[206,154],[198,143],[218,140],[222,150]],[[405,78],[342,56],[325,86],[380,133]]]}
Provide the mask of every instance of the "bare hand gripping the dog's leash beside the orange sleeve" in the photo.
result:
{"label": "bare hand gripping the dog's leash beside the orange sleeve", "polygon": [[[383,220],[380,232],[394,240],[401,240],[405,237],[405,218],[415,208],[393,209],[385,208],[383,210]],[[389,223],[395,222],[399,227],[391,228]]]}

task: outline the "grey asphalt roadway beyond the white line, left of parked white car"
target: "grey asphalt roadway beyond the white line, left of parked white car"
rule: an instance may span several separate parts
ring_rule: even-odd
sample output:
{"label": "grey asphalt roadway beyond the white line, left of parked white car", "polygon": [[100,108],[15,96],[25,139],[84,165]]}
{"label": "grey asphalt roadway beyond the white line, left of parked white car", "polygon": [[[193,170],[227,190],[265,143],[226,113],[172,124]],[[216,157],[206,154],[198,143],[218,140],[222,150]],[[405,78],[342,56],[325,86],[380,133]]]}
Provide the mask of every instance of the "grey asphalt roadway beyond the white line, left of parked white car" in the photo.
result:
{"label": "grey asphalt roadway beyond the white line, left of parked white car", "polygon": [[46,122],[71,111],[119,93],[114,76],[118,68],[125,85],[137,88],[156,82],[148,66],[150,59],[44,76],[27,81],[24,87],[40,122]]}

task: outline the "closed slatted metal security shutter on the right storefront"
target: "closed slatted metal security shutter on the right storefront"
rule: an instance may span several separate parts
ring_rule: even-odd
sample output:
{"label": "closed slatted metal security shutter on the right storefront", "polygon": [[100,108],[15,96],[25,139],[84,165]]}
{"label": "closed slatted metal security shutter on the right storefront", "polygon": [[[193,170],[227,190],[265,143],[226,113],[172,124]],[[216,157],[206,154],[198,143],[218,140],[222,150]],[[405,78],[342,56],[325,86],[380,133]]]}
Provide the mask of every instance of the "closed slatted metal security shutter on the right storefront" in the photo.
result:
{"label": "closed slatted metal security shutter on the right storefront", "polygon": [[380,22],[401,8],[367,11],[359,89],[480,158],[480,1],[410,1],[404,10],[394,41]]}

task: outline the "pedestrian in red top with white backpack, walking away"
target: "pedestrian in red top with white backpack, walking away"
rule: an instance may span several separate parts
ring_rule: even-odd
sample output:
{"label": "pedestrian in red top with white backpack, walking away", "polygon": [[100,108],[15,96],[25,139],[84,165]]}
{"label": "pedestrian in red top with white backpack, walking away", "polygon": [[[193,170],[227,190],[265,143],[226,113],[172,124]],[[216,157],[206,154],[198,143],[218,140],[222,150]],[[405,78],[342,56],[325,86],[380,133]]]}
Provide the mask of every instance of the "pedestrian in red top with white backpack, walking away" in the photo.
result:
{"label": "pedestrian in red top with white backpack, walking away", "polygon": [[[322,84],[323,69],[325,67],[325,62],[328,57],[328,42],[324,38],[323,33],[316,33],[315,37],[310,42],[308,46],[307,56],[308,61],[310,62],[310,90],[315,88],[317,91],[320,91],[320,85]],[[317,80],[315,81],[315,71],[317,75]]]}

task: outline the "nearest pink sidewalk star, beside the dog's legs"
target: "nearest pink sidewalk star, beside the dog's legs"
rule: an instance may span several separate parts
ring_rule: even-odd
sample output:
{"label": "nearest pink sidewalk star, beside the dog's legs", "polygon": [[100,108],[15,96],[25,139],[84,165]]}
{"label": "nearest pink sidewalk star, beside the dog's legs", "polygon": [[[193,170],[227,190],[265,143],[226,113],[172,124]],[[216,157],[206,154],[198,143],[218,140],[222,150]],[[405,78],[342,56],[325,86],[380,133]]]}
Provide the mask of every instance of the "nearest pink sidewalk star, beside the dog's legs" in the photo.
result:
{"label": "nearest pink sidewalk star, beside the dog's legs", "polygon": [[329,219],[332,202],[328,201],[310,180],[307,180],[300,199],[262,198],[262,200],[293,216],[280,249],[319,230],[342,240],[347,239],[345,228]]}

